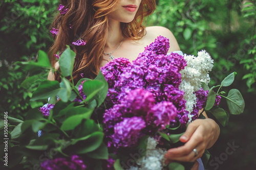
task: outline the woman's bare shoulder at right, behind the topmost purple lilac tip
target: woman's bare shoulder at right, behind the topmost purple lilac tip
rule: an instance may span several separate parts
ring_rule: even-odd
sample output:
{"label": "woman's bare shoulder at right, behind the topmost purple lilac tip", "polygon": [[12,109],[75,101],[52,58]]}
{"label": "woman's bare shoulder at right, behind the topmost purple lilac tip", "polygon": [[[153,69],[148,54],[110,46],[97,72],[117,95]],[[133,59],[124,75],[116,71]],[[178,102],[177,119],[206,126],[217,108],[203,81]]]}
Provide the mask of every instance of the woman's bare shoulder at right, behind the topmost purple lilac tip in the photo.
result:
{"label": "woman's bare shoulder at right, behind the topmost purple lilac tip", "polygon": [[153,39],[151,42],[153,42],[160,35],[168,38],[170,41],[170,48],[168,53],[180,50],[180,47],[176,38],[174,37],[173,33],[169,29],[165,27],[160,27],[160,26],[146,27],[145,36],[147,37],[146,39],[148,40]]}

